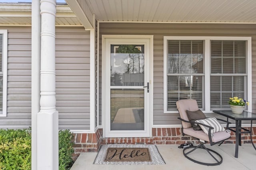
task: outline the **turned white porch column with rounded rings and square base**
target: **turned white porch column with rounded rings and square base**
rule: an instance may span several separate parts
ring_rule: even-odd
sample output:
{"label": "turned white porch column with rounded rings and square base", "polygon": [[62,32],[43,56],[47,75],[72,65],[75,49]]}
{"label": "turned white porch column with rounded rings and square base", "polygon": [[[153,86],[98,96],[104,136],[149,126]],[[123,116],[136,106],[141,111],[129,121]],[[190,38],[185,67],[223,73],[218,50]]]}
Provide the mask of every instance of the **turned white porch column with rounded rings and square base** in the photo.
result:
{"label": "turned white porch column with rounded rings and square base", "polygon": [[55,97],[56,0],[41,0],[40,112],[37,115],[37,169],[58,170],[58,111]]}

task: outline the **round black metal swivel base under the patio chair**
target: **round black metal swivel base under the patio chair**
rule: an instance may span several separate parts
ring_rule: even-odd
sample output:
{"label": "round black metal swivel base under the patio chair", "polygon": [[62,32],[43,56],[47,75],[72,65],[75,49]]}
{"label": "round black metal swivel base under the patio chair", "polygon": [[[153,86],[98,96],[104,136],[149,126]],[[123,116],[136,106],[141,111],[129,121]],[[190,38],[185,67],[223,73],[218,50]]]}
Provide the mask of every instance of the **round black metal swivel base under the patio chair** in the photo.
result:
{"label": "round black metal swivel base under the patio chair", "polygon": [[[191,149],[191,148],[194,148],[194,149],[192,149],[192,150],[190,150],[190,151],[188,151],[188,152],[185,152],[185,150]],[[193,152],[193,151],[196,150],[196,149],[205,149],[205,150],[210,154],[210,156],[212,156],[212,158],[214,158],[214,160],[216,161],[216,163],[200,162],[200,161],[198,161],[198,160],[195,160],[195,159],[193,159],[193,158],[190,158],[190,157],[188,156],[188,154],[190,154],[191,152]],[[215,154],[219,157],[219,160],[218,160],[211,152],[212,152],[212,153],[215,153]],[[206,147],[204,146],[204,144],[202,144],[202,143],[199,144],[198,146],[191,146],[191,147],[186,147],[186,148],[184,148],[184,149],[183,149],[183,154],[184,154],[184,156],[185,156],[186,158],[188,158],[189,160],[191,160],[191,161],[193,161],[193,162],[195,162],[195,163],[198,163],[198,164],[202,164],[202,165],[215,166],[215,165],[219,165],[219,164],[222,163],[222,156],[221,156],[218,152],[216,152],[216,151],[214,151],[214,150],[212,150],[212,149],[206,148]]]}

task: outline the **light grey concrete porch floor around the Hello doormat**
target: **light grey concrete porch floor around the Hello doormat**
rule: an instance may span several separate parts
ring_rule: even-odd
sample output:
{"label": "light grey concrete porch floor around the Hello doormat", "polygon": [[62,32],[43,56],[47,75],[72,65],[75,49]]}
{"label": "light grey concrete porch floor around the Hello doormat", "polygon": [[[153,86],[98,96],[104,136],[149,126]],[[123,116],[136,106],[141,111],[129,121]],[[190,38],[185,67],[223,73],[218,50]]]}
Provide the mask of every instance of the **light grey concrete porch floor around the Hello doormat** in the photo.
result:
{"label": "light grey concrete porch floor around the Hello doormat", "polygon": [[[222,164],[217,166],[200,165],[188,160],[183,155],[183,149],[178,148],[179,145],[156,146],[166,162],[165,165],[96,165],[93,162],[97,153],[88,152],[80,154],[71,170],[256,170],[256,150],[254,150],[252,144],[239,146],[238,158],[234,157],[235,145],[233,144],[222,144],[220,147],[206,145],[207,148],[215,150],[223,157]],[[198,153],[198,156],[206,158],[203,154]]]}

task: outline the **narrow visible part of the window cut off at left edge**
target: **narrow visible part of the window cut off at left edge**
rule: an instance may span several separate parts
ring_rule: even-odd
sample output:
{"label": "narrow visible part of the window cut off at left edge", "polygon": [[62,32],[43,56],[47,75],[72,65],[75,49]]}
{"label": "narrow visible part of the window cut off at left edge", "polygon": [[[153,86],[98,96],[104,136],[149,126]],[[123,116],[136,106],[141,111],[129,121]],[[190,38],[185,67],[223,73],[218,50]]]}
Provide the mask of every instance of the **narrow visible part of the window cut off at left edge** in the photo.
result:
{"label": "narrow visible part of the window cut off at left edge", "polygon": [[7,30],[0,30],[0,117],[6,116]]}

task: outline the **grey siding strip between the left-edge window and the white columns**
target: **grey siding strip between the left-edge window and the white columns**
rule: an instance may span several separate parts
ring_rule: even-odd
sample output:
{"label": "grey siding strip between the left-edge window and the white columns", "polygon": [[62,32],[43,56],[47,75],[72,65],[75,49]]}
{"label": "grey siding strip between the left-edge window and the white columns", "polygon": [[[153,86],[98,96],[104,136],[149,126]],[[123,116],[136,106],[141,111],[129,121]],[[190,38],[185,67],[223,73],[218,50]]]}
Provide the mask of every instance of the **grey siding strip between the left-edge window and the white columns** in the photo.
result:
{"label": "grey siding strip between the left-edge window and the white columns", "polygon": [[0,117],[0,128],[26,128],[31,125],[31,29],[0,29],[8,30],[7,117]]}

